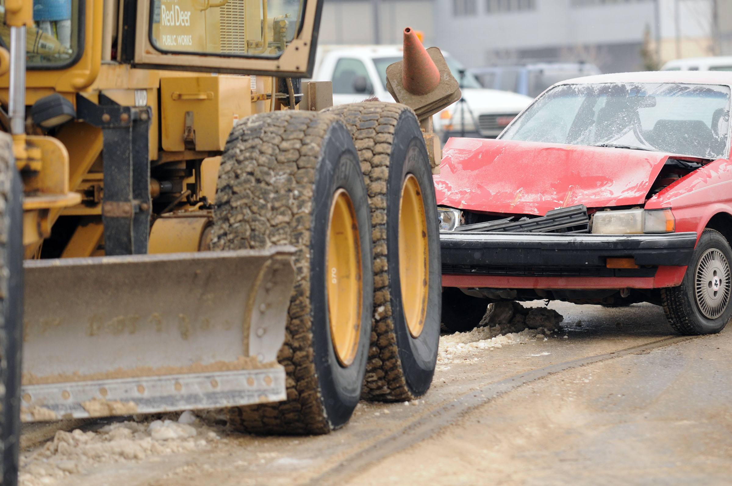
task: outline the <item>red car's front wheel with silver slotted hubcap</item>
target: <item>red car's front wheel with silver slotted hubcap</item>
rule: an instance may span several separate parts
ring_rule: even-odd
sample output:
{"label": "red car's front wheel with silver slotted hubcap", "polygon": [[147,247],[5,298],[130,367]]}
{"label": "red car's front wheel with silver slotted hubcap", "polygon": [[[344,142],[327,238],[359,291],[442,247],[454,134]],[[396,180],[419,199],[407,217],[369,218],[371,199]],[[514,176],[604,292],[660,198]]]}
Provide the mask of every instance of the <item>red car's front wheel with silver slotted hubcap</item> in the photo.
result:
{"label": "red car's front wheel with silver slotted hubcap", "polygon": [[722,233],[705,229],[681,285],[661,289],[663,310],[679,334],[714,334],[732,318],[732,249]]}

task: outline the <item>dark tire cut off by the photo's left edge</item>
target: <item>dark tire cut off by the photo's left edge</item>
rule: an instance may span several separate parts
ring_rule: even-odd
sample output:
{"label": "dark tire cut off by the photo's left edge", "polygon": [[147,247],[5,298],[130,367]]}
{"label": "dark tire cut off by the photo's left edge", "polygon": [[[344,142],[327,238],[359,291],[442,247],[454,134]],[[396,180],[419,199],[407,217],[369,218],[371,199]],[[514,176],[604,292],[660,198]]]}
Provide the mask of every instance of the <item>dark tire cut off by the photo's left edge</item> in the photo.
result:
{"label": "dark tire cut off by the photo's left edge", "polygon": [[18,482],[20,348],[23,343],[23,191],[12,139],[0,135],[0,478]]}

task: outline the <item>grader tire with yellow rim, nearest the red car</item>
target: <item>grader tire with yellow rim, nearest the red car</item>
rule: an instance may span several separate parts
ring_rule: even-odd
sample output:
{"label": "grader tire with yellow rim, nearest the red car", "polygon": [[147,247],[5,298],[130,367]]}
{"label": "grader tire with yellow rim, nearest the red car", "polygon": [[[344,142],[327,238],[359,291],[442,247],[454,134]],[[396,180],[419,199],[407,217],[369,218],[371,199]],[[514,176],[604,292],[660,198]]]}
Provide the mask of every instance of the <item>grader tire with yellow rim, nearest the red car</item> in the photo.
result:
{"label": "grader tire with yellow rim, nearest the red car", "polygon": [[354,138],[371,207],[376,288],[363,397],[413,400],[430,388],[440,338],[440,240],[425,141],[405,105],[361,102],[326,112],[341,116]]}

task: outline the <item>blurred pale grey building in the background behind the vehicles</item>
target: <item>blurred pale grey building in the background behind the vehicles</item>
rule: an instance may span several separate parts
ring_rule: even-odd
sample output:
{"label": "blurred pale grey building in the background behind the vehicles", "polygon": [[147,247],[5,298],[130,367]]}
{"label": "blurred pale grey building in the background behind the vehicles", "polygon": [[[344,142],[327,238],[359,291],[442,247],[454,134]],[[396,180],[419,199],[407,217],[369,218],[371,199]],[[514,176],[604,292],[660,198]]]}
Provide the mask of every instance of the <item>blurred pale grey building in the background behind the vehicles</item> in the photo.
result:
{"label": "blurred pale grey building in the background behind the vehicles", "polygon": [[320,42],[400,43],[406,26],[467,67],[557,60],[622,72],[732,54],[732,0],[325,0]]}

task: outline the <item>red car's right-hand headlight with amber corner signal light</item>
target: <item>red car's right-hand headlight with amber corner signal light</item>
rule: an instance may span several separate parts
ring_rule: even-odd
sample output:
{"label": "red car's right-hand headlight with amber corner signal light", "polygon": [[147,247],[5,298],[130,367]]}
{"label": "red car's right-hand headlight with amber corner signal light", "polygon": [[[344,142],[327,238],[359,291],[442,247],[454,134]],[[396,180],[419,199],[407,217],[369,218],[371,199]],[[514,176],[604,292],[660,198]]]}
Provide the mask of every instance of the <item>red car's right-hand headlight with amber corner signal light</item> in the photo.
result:
{"label": "red car's right-hand headlight with amber corner signal light", "polygon": [[594,234],[673,233],[676,220],[671,209],[599,211],[592,217]]}

